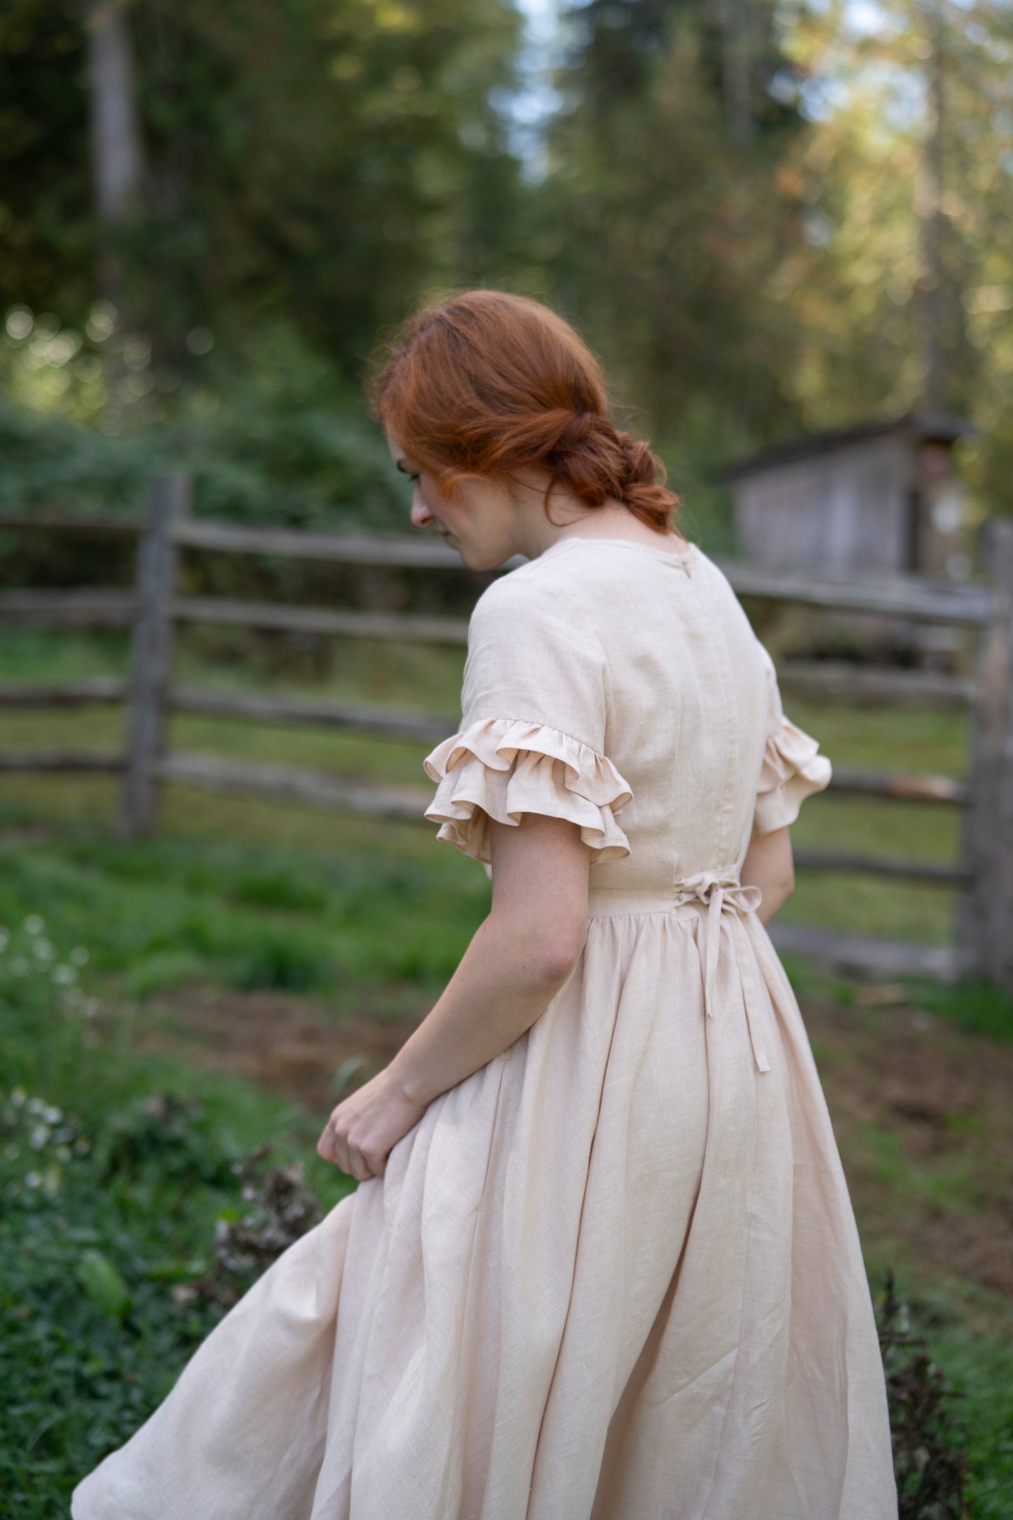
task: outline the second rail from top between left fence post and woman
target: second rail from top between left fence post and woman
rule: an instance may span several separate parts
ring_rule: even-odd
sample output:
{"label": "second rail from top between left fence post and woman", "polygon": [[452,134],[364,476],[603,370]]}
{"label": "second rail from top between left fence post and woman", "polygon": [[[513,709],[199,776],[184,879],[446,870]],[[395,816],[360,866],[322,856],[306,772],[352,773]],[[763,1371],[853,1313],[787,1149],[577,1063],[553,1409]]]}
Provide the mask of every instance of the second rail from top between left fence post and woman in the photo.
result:
{"label": "second rail from top between left fence post and woman", "polygon": [[231,628],[278,628],[301,634],[345,634],[351,638],[392,638],[425,644],[466,644],[468,619],[421,617],[410,613],[355,613],[284,602],[234,602],[217,596],[176,596],[178,622]]}

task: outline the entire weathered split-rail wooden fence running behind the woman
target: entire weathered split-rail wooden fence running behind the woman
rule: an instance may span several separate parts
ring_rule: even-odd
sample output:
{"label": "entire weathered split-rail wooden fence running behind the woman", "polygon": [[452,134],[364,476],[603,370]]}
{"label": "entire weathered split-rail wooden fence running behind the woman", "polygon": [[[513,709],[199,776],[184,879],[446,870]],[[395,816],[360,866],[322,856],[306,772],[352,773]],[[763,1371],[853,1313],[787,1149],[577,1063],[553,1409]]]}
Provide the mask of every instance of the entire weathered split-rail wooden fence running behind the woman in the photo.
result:
{"label": "entire weathered split-rail wooden fence running behind the woman", "polygon": [[[955,945],[885,944],[831,930],[775,924],[782,948],[813,953],[841,970],[873,974],[981,974],[1013,990],[1013,521],[990,524],[987,587],[942,587],[913,576],[840,582],[802,573],[772,573],[747,564],[723,568],[740,596],[813,608],[902,617],[980,631],[975,675],[960,679],[933,672],[861,669],[823,661],[791,661],[781,672],[785,695],[879,702],[892,707],[970,707],[969,780],[870,772],[835,766],[838,793],[958,807],[963,812],[960,859],[934,863],[843,851],[797,850],[800,868],[869,872],[913,882],[952,885],[958,907]],[[349,783],[296,766],[252,765],[170,749],[170,713],[204,713],[267,724],[320,724],[358,733],[436,742],[453,733],[456,717],[363,708],[354,704],[228,695],[179,686],[172,678],[178,623],[345,634],[392,641],[466,644],[468,622],[395,613],[308,608],[284,603],[182,596],[181,550],[293,556],[340,564],[462,568],[442,544],[407,535],[339,535],[289,529],[237,527],[190,515],[190,480],[182,474],[152,482],[147,520],[55,518],[0,514],[0,527],[76,534],[129,534],[138,540],[134,591],[0,591],[0,625],[131,626],[129,682],[77,681],[70,686],[0,687],[0,708],[53,708],[90,702],[126,705],[121,752],[0,751],[0,772],[106,772],[121,777],[118,828],[125,838],[156,827],[158,795],[178,783],[229,795],[251,795],[375,818],[421,821],[431,795],[422,787]],[[524,561],[507,561],[504,568]]]}

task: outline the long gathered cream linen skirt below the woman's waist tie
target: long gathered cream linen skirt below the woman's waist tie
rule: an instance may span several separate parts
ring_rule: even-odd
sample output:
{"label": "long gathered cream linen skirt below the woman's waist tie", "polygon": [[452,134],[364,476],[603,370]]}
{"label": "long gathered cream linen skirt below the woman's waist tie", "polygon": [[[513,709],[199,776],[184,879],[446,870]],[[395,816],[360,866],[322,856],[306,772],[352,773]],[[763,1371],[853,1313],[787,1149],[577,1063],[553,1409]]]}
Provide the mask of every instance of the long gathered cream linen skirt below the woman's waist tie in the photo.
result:
{"label": "long gathered cream linen skirt below the woman's waist tie", "polygon": [[855,1219],[773,945],[732,901],[715,924],[592,891],[547,1012],[279,1257],[71,1514],[896,1506]]}

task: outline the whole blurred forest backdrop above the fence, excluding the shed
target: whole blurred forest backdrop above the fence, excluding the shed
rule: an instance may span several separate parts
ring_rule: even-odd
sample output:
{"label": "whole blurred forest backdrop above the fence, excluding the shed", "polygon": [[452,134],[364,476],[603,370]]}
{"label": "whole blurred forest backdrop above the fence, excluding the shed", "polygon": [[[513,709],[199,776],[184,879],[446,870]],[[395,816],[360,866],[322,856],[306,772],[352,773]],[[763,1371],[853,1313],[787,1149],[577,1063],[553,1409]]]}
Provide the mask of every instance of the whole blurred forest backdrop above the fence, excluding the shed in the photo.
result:
{"label": "whole blurred forest backdrop above the fence, excluding the shed", "polygon": [[729,459],[914,409],[1008,512],[1011,59],[1005,0],[8,0],[0,491],[172,458],[217,515],[389,523],[363,365],[491,284],[703,518]]}

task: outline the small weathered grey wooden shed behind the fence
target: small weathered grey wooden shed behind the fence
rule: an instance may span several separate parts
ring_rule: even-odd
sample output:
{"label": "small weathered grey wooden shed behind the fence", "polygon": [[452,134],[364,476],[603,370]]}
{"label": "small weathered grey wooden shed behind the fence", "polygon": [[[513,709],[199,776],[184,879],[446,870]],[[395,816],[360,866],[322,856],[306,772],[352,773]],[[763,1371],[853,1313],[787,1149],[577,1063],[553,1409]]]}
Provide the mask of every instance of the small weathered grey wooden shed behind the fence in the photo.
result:
{"label": "small weathered grey wooden shed behind the fence", "polygon": [[911,412],[811,433],[723,471],[738,552],[753,564],[825,573],[970,570],[952,447],[963,418]]}

